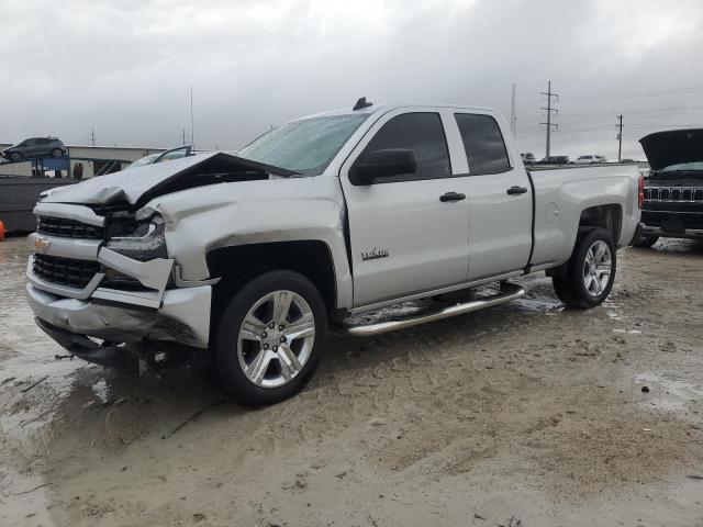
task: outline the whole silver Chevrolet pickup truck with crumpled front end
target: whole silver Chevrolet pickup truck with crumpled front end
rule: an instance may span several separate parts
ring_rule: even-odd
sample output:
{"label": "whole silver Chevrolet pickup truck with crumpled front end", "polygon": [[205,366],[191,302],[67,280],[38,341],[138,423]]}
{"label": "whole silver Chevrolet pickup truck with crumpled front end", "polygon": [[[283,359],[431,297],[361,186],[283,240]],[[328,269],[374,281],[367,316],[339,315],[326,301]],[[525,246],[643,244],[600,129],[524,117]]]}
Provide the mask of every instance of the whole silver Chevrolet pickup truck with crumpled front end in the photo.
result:
{"label": "whole silver Chevrolet pickup truck with crumpled front end", "polygon": [[[237,401],[297,393],[328,328],[365,336],[518,298],[546,271],[599,305],[640,217],[636,166],[525,170],[495,111],[373,105],[62,188],[31,235],[37,324],[93,362],[124,343],[199,350]],[[489,296],[366,325],[357,313],[488,282]],[[174,345],[174,347],[176,347]]]}

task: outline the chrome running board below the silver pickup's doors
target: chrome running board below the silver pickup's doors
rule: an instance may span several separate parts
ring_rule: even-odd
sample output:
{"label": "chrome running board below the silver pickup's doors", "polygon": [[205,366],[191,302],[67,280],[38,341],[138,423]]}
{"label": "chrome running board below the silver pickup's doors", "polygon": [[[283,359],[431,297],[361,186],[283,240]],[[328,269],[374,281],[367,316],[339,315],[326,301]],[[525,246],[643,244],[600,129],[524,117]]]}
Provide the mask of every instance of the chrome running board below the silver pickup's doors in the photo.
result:
{"label": "chrome running board below the silver pickup's doors", "polygon": [[371,337],[382,333],[394,332],[395,329],[404,329],[406,327],[419,326],[428,322],[449,318],[450,316],[464,315],[473,311],[483,310],[493,305],[503,304],[511,300],[517,300],[525,294],[525,289],[511,282],[501,282],[501,292],[491,296],[472,300],[461,304],[450,305],[433,313],[422,314],[420,316],[402,318],[400,321],[379,322],[362,326],[338,327],[334,333],[348,335],[352,337]]}

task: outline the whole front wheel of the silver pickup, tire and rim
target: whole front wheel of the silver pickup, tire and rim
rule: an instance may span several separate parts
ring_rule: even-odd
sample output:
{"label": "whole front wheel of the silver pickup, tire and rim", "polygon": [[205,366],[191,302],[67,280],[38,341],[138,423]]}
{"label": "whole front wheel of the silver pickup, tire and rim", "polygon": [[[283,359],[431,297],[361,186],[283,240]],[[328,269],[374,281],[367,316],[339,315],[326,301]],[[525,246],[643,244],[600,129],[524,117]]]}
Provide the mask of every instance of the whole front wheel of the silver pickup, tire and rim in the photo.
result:
{"label": "whole front wheel of the silver pickup, tire and rim", "polygon": [[317,366],[326,333],[324,301],[310,280],[283,270],[260,274],[220,321],[214,352],[223,388],[247,406],[297,394]]}

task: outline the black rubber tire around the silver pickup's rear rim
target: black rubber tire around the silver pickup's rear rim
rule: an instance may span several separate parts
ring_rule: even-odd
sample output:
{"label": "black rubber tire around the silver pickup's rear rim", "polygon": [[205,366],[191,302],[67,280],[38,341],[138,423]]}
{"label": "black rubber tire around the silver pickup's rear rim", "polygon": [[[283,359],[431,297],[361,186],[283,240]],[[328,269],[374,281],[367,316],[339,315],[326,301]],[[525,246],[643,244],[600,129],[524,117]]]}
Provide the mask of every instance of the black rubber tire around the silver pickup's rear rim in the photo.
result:
{"label": "black rubber tire around the silver pickup's rear rim", "polygon": [[[611,272],[605,287],[599,294],[593,294],[585,288],[584,272],[587,270],[587,255],[589,249],[598,242],[607,245],[611,255]],[[561,302],[571,306],[585,310],[603,303],[613,288],[617,269],[617,254],[615,244],[604,228],[581,229],[571,254],[571,258],[553,277],[555,292]]]}

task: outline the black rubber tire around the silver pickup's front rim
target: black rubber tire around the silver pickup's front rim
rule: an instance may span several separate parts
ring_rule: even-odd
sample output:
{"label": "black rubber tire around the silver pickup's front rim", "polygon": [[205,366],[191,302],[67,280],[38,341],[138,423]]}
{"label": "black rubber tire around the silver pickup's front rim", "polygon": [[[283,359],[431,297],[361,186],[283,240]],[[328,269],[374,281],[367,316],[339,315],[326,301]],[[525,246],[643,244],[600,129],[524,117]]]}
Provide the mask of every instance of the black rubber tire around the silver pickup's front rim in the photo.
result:
{"label": "black rubber tire around the silver pickup's front rim", "polygon": [[[249,310],[266,295],[276,291],[292,291],[308,303],[314,319],[315,334],[312,349],[302,369],[280,386],[263,388],[250,381],[243,371],[239,363],[238,335]],[[246,283],[236,293],[220,319],[214,358],[222,388],[232,399],[245,406],[268,406],[289,399],[300,392],[314,373],[326,337],[327,312],[317,288],[298,272],[288,270],[265,272]],[[292,341],[290,344],[292,348]]]}

